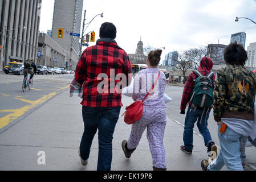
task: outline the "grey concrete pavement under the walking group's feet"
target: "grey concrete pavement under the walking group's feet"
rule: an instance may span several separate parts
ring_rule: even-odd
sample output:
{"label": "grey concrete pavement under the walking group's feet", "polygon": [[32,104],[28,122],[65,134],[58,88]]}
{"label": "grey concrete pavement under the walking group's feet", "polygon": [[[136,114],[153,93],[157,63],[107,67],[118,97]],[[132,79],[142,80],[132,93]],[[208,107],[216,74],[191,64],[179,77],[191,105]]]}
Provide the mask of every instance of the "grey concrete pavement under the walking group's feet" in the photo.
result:
{"label": "grey concrete pavement under the walking group's feet", "polygon": [[[0,134],[0,170],[95,171],[97,134],[86,167],[80,164],[78,156],[84,127],[80,101],[79,97],[70,98],[67,89]],[[132,99],[123,96],[122,102],[127,106]],[[125,107],[122,107],[120,115],[124,110]],[[167,170],[201,171],[201,160],[207,156],[204,140],[195,134],[193,154],[185,154],[180,150],[183,130],[179,123],[168,118],[164,137]],[[121,142],[128,139],[130,131],[131,125],[125,124],[120,116],[113,136],[112,171],[152,171],[146,132],[131,158],[125,158]],[[43,153],[46,163],[38,164]],[[226,170],[226,167],[222,170]]]}

